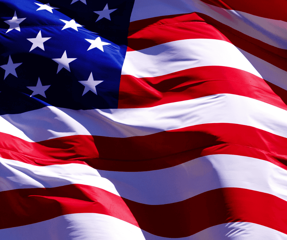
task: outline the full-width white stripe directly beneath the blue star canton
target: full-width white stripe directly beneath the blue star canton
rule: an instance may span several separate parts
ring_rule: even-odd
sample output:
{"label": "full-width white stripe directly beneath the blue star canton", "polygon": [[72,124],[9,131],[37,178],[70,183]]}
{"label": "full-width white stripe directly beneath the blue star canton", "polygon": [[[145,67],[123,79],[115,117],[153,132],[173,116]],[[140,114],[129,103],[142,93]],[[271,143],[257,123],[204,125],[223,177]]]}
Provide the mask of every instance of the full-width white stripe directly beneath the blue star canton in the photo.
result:
{"label": "full-width white stripe directly beneath the blue star canton", "polygon": [[[287,111],[233,94],[216,94],[151,108],[75,111],[48,106],[1,117],[15,126],[16,131],[10,134],[20,138],[26,135],[35,142],[71,135],[145,136],[205,123],[248,125],[287,138]],[[21,135],[17,135],[18,129],[23,132]],[[0,131],[3,130],[0,125]]]}

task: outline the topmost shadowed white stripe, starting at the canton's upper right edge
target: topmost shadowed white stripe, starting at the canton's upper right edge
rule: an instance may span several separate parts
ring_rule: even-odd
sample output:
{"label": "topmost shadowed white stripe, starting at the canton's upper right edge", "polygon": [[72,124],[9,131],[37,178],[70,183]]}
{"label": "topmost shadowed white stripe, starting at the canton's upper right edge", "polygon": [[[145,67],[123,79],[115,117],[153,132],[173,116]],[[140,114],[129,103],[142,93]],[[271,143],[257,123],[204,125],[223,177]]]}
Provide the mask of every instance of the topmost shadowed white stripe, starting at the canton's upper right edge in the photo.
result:
{"label": "topmost shadowed white stripe, starting at the canton's upper right edge", "polygon": [[[152,6],[152,7],[151,7]],[[157,16],[199,12],[250,37],[277,48],[287,49],[287,23],[249,13],[222,9],[199,0],[136,0],[130,21]]]}

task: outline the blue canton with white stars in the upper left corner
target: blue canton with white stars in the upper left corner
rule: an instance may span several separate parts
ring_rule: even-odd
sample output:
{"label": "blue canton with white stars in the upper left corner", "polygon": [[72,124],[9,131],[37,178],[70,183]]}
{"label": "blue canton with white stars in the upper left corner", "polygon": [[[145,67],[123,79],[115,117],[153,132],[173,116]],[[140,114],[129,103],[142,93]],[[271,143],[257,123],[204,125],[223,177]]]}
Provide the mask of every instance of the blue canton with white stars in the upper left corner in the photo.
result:
{"label": "blue canton with white stars in the upper left corner", "polygon": [[134,1],[0,1],[0,115],[118,107]]}

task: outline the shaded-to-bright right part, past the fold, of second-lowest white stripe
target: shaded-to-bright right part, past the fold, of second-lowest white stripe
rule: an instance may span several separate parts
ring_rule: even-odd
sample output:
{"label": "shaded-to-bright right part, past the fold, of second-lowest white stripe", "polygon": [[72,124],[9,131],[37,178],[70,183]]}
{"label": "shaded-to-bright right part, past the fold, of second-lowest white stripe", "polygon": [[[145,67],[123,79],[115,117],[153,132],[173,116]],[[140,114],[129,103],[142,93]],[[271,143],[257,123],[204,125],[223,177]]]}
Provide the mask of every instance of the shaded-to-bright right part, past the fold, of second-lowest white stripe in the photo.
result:
{"label": "shaded-to-bright right part, past the fold, of second-lowest white stripe", "polygon": [[265,192],[287,201],[287,171],[252,157],[216,154],[161,170],[98,171],[120,196],[150,205],[180,202],[228,187]]}

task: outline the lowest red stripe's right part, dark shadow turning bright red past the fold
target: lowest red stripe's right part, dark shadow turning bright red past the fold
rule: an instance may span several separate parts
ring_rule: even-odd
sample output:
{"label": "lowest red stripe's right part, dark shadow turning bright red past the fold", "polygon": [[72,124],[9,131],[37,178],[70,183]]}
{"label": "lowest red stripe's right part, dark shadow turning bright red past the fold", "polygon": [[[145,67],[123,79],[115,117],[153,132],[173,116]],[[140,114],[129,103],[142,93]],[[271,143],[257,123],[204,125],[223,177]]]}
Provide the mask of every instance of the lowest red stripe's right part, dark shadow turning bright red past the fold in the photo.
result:
{"label": "lowest red stripe's right part, dark shadow turning bright red past the fold", "polygon": [[251,222],[287,233],[287,202],[248,189],[215,189],[164,205],[125,203],[141,229],[162,237],[183,238],[228,222]]}

